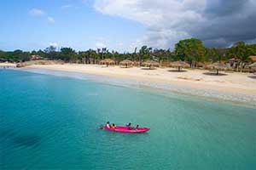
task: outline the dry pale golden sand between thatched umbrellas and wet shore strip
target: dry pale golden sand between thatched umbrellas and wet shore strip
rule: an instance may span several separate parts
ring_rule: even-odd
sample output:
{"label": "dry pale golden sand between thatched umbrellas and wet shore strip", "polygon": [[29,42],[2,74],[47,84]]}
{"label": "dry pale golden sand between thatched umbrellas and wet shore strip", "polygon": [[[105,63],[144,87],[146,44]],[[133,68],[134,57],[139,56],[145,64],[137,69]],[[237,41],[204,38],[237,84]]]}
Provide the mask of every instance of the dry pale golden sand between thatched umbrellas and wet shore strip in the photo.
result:
{"label": "dry pale golden sand between thatched umbrellas and wet shore strip", "polygon": [[48,69],[53,71],[72,71],[90,73],[108,77],[121,77],[145,82],[164,82],[183,88],[210,89],[223,93],[256,95],[256,75],[250,73],[227,73],[213,75],[205,70],[183,70],[177,72],[174,68],[120,68],[104,65],[32,65],[29,68]]}

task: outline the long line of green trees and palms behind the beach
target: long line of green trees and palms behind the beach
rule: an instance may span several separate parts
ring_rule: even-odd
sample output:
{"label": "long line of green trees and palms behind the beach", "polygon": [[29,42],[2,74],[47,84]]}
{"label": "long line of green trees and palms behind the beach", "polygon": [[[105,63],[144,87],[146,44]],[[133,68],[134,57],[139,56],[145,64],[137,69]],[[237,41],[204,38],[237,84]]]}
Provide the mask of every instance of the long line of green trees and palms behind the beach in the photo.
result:
{"label": "long line of green trees and palms behind the beach", "polygon": [[196,63],[216,62],[237,59],[241,64],[249,62],[251,55],[256,55],[256,44],[236,42],[231,48],[206,48],[200,39],[190,38],[177,42],[173,51],[170,49],[148,48],[143,46],[135,48],[132,53],[119,53],[109,51],[108,48],[89,49],[76,52],[73,48],[61,48],[59,51],[50,46],[44,50],[24,52],[15,50],[13,52],[0,51],[0,61],[22,62],[31,59],[32,55],[39,55],[44,59],[61,59],[65,62],[97,64],[101,59],[115,59],[117,62],[123,59],[141,62],[146,59],[154,59],[160,62],[183,60],[191,66]]}

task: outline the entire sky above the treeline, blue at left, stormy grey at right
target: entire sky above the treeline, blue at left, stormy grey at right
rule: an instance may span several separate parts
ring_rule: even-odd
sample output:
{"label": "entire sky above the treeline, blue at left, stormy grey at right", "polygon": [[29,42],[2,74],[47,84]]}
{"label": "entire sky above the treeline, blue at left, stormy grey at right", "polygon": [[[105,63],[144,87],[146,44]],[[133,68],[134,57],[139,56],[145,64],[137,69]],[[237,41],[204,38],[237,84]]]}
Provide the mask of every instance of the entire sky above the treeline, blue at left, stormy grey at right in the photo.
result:
{"label": "entire sky above the treeline, blue at left, stormy grey at right", "polygon": [[256,43],[256,0],[3,0],[0,49],[133,51],[174,48],[200,38],[207,47]]}

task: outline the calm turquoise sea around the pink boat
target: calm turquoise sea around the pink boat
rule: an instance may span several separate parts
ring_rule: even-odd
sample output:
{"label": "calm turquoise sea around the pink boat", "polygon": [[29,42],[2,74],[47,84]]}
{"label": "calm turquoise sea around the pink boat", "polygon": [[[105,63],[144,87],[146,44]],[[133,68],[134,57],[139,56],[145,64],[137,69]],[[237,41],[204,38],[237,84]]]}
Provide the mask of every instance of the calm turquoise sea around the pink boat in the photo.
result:
{"label": "calm turquoise sea around the pink boat", "polygon": [[256,109],[221,101],[0,70],[0,118],[0,169],[256,169]]}

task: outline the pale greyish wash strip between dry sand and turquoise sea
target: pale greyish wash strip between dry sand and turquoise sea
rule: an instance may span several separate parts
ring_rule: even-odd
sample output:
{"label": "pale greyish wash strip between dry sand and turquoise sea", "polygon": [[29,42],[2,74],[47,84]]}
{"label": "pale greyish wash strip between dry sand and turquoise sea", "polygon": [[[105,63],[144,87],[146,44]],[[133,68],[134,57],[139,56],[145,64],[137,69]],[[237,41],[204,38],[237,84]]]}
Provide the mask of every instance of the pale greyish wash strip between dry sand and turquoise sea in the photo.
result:
{"label": "pale greyish wash strip between dry sand and turquoise sea", "polygon": [[[162,91],[161,94],[169,94],[169,92],[177,93],[177,94],[185,94],[185,95],[192,95],[203,97],[204,99],[214,99],[221,101],[231,101],[236,104],[240,105],[251,105],[256,108],[256,95],[251,94],[237,94],[237,93],[230,93],[230,92],[219,92],[215,89],[199,89],[199,88],[189,88],[185,86],[177,86],[172,83],[166,82],[148,82],[148,81],[139,81],[135,79],[129,78],[122,78],[122,77],[108,77],[108,76],[99,76],[94,74],[84,74],[80,72],[69,72],[69,71],[51,71],[46,69],[32,69],[32,68],[22,68],[20,71],[29,71],[39,74],[47,74],[47,75],[54,75],[58,77],[73,77],[76,79],[82,79],[87,81],[93,82],[103,82],[112,85],[118,85],[122,87],[128,88],[140,88],[140,89],[147,89]],[[166,91],[166,92],[163,92]]]}

